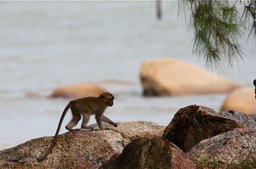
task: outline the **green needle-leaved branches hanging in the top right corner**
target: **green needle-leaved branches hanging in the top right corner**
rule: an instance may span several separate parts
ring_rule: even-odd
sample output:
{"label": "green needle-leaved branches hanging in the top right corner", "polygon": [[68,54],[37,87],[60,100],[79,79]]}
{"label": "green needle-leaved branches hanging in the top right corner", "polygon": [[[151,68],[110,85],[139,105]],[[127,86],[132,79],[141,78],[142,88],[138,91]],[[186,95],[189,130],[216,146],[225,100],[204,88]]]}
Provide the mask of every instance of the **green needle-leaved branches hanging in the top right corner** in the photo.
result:
{"label": "green needle-leaved branches hanging in the top right corner", "polygon": [[[188,28],[194,31],[193,52],[206,58],[207,64],[242,58],[239,40],[243,30],[256,37],[256,1],[179,1],[179,13],[189,16]],[[238,8],[243,7],[243,13]],[[187,15],[187,12],[190,12]]]}

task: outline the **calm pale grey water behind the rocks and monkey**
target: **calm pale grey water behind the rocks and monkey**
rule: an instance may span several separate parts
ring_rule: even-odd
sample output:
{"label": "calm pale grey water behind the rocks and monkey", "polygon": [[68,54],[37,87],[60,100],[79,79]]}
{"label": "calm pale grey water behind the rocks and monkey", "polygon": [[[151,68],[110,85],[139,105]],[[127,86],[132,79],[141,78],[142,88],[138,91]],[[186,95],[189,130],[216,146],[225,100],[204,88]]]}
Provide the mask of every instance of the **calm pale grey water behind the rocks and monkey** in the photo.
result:
{"label": "calm pale grey water behind the rocks and monkey", "polygon": [[[226,97],[141,97],[139,71],[145,60],[174,57],[205,67],[192,54],[192,35],[170,2],[163,3],[161,21],[150,1],[0,2],[0,11],[0,150],[55,133],[68,100],[46,96],[59,86],[128,81],[105,86],[116,96],[106,116],[118,122],[161,125],[168,125],[179,108],[190,104],[218,110]],[[244,53],[244,61],[234,63],[232,69],[212,71],[252,87],[255,44],[244,44]],[[40,97],[28,98],[27,92]],[[66,131],[62,127],[61,133]]]}

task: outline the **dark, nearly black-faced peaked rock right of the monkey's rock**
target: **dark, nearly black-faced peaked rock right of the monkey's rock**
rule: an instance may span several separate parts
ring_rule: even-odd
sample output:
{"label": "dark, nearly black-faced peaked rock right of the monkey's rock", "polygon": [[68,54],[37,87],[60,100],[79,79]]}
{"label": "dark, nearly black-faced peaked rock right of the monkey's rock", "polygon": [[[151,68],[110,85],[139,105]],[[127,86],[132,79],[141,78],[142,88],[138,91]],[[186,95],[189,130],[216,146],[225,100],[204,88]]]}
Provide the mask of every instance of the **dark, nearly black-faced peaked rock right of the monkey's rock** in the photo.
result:
{"label": "dark, nearly black-faced peaked rock right of the monkey's rock", "polygon": [[204,106],[190,105],[175,114],[162,138],[187,152],[201,140],[234,128],[256,131],[256,116],[237,111],[217,112]]}

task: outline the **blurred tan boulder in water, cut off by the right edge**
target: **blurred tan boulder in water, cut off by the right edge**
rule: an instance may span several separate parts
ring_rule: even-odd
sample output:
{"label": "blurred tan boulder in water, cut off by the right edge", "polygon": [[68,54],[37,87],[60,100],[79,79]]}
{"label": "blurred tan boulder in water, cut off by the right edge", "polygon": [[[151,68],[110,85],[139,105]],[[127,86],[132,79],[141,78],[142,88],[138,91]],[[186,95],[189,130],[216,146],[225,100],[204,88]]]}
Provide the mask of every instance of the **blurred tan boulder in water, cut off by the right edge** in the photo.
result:
{"label": "blurred tan boulder in water, cut off by the right edge", "polygon": [[233,90],[225,99],[221,110],[236,110],[245,114],[256,114],[254,89],[242,87]]}

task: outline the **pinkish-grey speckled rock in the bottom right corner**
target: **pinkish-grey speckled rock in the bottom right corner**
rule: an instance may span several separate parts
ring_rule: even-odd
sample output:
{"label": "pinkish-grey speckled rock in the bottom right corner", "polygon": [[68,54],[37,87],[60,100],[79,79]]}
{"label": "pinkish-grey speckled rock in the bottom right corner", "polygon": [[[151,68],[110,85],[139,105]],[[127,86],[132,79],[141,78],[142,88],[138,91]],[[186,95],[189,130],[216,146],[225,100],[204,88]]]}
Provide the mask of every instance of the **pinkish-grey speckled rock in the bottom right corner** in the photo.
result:
{"label": "pinkish-grey speckled rock in the bottom right corner", "polygon": [[256,131],[236,128],[202,140],[186,154],[197,168],[227,168],[228,165],[238,168],[238,164],[251,165],[242,168],[253,168],[253,165],[256,167],[255,140]]}

